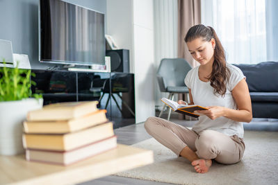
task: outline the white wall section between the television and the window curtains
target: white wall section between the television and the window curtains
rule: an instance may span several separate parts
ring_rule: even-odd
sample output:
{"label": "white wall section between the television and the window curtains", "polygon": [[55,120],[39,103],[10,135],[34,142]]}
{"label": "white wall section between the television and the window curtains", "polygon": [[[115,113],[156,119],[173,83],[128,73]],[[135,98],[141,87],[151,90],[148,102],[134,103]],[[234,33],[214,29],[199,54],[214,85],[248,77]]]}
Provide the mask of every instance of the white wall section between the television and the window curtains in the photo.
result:
{"label": "white wall section between the television and the window curtains", "polygon": [[154,0],[107,0],[106,3],[107,33],[121,49],[130,49],[132,53],[136,123],[141,123],[155,114]]}

